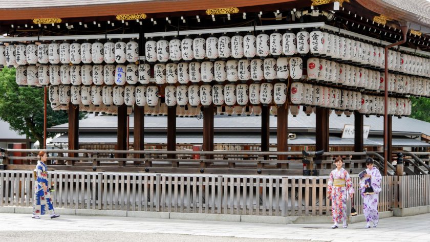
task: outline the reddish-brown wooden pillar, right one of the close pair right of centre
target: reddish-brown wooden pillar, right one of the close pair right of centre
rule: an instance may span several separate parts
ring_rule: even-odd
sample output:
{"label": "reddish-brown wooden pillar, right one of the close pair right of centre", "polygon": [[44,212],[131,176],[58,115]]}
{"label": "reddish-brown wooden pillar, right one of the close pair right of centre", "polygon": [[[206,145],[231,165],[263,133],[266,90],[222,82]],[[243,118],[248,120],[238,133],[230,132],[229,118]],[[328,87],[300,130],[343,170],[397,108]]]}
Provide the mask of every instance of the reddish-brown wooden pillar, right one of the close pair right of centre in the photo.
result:
{"label": "reddish-brown wooden pillar, right one of the close pair right of centre", "polygon": [[[284,104],[277,109],[277,151],[288,151],[288,104]],[[278,160],[287,160],[288,156],[278,156]],[[278,164],[279,167],[279,164]],[[288,169],[288,164],[280,165],[283,169]]]}

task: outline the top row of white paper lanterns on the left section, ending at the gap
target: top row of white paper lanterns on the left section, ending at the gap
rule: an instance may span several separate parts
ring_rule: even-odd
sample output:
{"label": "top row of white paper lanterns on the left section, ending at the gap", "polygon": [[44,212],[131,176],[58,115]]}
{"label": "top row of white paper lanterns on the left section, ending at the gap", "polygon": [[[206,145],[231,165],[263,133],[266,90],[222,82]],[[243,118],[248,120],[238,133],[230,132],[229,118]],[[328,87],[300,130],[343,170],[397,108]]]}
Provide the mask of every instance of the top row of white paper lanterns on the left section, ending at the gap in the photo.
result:
{"label": "top row of white paper lanterns on the left section, ending at the gap", "polygon": [[139,44],[131,40],[112,42],[63,42],[35,45],[0,45],[0,65],[12,67],[26,64],[113,64],[139,60]]}

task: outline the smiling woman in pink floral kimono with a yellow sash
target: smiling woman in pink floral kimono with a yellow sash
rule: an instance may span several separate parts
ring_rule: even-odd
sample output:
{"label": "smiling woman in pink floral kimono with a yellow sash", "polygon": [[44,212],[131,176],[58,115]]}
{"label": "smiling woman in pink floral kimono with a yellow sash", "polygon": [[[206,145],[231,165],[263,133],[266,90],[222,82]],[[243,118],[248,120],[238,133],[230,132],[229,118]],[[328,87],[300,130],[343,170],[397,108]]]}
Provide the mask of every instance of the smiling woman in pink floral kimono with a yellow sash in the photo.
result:
{"label": "smiling woman in pink floral kimono with a yellow sash", "polygon": [[332,229],[338,228],[338,223],[342,220],[343,228],[348,228],[347,224],[347,199],[348,194],[354,194],[354,187],[347,170],[342,168],[343,160],[337,157],[334,160],[336,169],[330,172],[330,178],[327,187],[328,196],[332,202]]}

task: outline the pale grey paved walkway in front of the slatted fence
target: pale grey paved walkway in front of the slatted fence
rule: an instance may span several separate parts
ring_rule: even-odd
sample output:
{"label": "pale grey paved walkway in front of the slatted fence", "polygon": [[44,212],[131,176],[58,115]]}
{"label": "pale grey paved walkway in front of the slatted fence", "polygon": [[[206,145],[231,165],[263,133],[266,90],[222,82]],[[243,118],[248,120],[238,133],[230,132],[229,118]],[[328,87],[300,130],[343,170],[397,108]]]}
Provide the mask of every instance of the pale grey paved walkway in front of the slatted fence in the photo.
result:
{"label": "pale grey paved walkway in front of the slatted fence", "polygon": [[329,224],[258,224],[175,219],[62,215],[32,219],[30,214],[0,213],[0,241],[430,241],[430,214],[380,219],[347,229]]}

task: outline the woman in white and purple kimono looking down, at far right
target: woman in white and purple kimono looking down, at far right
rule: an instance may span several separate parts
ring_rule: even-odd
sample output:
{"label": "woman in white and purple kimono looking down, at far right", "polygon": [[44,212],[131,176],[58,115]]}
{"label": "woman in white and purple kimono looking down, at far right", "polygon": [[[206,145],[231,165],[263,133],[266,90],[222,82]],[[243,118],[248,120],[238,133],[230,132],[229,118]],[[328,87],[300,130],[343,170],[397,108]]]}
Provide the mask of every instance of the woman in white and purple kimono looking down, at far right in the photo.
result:
{"label": "woman in white and purple kimono looking down, at far right", "polygon": [[373,221],[374,228],[378,226],[379,222],[378,198],[381,191],[382,176],[379,169],[373,166],[372,158],[366,160],[366,166],[368,168],[360,181],[360,190],[361,196],[363,196],[363,213],[367,221],[364,228],[369,229],[371,221]]}

